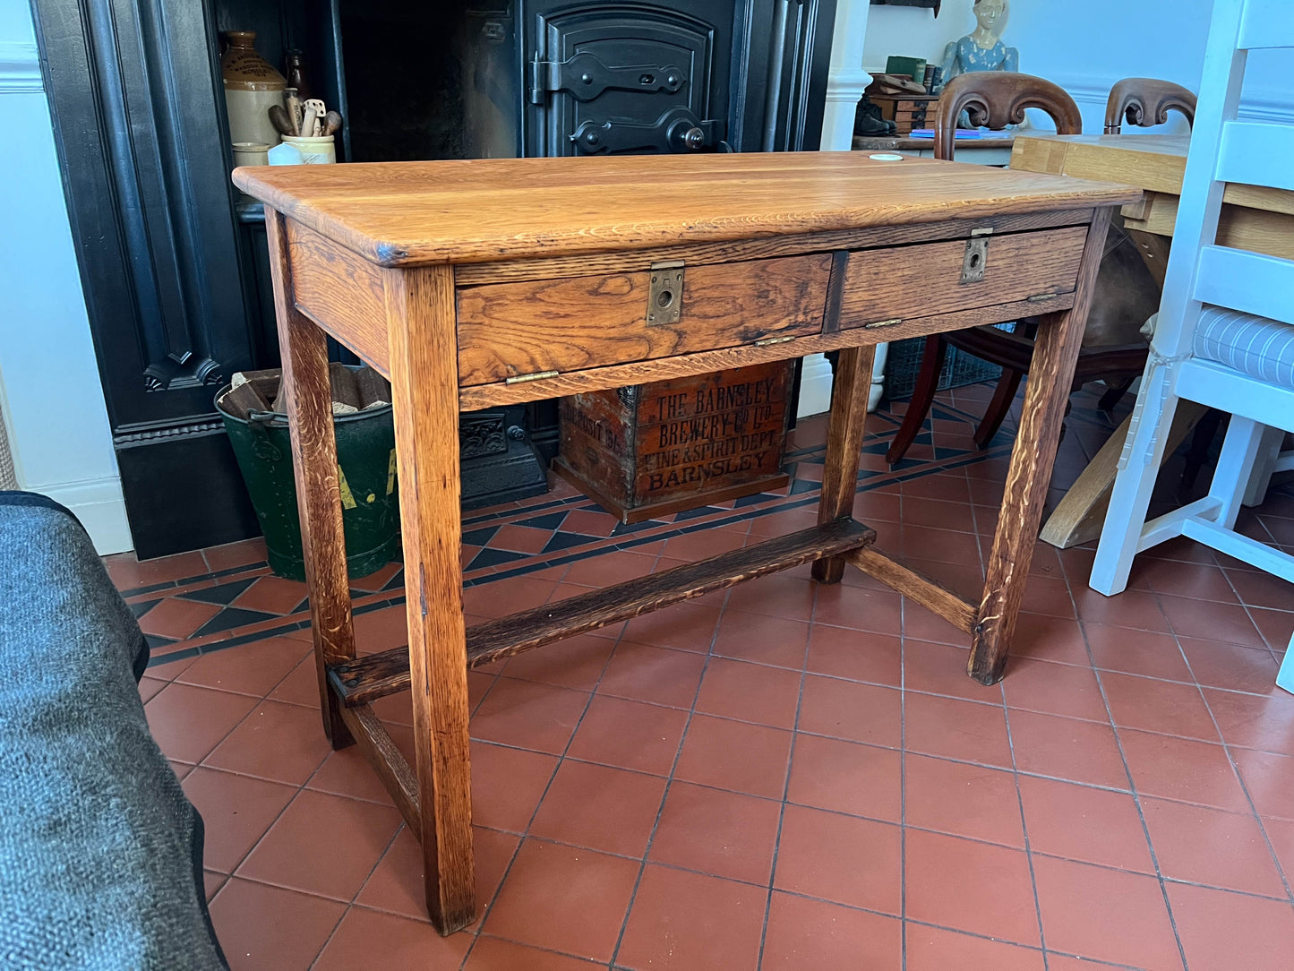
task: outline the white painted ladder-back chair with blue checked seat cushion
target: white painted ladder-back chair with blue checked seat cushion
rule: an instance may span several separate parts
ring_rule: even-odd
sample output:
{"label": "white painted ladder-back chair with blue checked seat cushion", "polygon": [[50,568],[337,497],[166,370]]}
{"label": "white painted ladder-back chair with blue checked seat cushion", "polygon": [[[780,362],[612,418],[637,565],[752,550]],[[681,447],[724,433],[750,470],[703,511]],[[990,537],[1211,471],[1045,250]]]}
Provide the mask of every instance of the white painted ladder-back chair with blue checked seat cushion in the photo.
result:
{"label": "white painted ladder-back chair with blue checked seat cushion", "polygon": [[[1294,126],[1237,120],[1259,48],[1294,48],[1294,0],[1215,0],[1159,321],[1092,566],[1104,594],[1123,590],[1137,553],[1175,536],[1294,584],[1294,557],[1234,531],[1241,504],[1288,466],[1277,451],[1294,431],[1294,262],[1216,245],[1228,183],[1294,190]],[[1183,399],[1232,414],[1218,470],[1205,498],[1146,522]],[[1276,682],[1294,691],[1294,642]]]}

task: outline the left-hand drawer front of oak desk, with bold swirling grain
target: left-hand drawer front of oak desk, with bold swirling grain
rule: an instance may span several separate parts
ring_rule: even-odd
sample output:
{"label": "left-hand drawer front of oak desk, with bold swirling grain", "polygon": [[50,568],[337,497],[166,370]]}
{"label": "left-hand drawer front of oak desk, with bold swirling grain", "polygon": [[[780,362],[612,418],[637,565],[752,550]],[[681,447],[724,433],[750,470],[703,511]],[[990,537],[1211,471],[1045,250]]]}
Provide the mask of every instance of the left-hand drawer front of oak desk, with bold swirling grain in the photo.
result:
{"label": "left-hand drawer front of oak desk, with bold swirling grain", "polygon": [[677,322],[647,321],[651,272],[465,286],[458,381],[487,385],[822,331],[831,255],[683,268]]}

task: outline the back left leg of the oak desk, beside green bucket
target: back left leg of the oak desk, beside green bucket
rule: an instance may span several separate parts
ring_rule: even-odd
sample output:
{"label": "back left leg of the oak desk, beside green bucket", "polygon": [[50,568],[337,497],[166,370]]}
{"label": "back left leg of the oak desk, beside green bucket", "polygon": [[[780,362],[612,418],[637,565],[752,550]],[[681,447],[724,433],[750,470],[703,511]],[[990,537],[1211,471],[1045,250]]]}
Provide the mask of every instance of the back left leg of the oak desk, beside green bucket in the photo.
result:
{"label": "back left leg of the oak desk, beside green bucket", "polygon": [[269,268],[274,281],[278,348],[283,359],[283,395],[292,439],[292,474],[302,517],[305,586],[311,598],[314,668],[318,675],[324,731],[334,748],[355,739],[342,722],[327,684],[327,665],[355,658],[351,585],[342,532],[336,439],[333,435],[333,392],[327,374],[327,337],[296,309],[283,216],[265,207]]}

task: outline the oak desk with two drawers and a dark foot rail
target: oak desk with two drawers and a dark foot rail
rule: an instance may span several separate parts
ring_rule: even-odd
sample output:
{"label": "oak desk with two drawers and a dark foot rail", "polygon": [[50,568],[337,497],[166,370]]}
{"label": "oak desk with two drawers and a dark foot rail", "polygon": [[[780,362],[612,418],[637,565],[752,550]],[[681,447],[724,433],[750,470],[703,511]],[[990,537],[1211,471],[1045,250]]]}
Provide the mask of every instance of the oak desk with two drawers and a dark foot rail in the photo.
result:
{"label": "oak desk with two drawers and a dark foot rail", "polygon": [[[360,743],[421,839],[443,933],[476,913],[471,665],[811,561],[820,583],[853,564],[936,610],[970,634],[970,673],[1002,677],[1105,230],[1135,190],[858,153],[239,168],[234,183],[267,206],[325,729]],[[873,346],[1039,311],[970,603],[871,550],[850,518]],[[409,647],[362,658],[326,334],[393,387]],[[465,631],[459,409],[828,350],[841,355],[818,527]],[[413,766],[369,707],[405,689]]]}

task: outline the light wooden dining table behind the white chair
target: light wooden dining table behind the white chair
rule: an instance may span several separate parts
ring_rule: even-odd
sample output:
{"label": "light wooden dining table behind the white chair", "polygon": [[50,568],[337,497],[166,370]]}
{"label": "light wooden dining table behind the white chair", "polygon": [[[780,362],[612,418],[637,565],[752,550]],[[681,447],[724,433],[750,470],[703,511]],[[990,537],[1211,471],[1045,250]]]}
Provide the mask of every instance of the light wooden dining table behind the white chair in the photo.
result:
{"label": "light wooden dining table behind the white chair", "polygon": [[[1123,228],[1136,241],[1152,276],[1163,286],[1189,135],[1016,135],[1011,167],[1077,179],[1123,183],[1143,190],[1121,210]],[[1254,185],[1227,186],[1218,243],[1294,259],[1294,193]],[[1205,409],[1183,403],[1174,418],[1165,456],[1172,454]],[[1056,505],[1042,539],[1075,546],[1101,533],[1119,454],[1131,417],[1110,435]]]}

